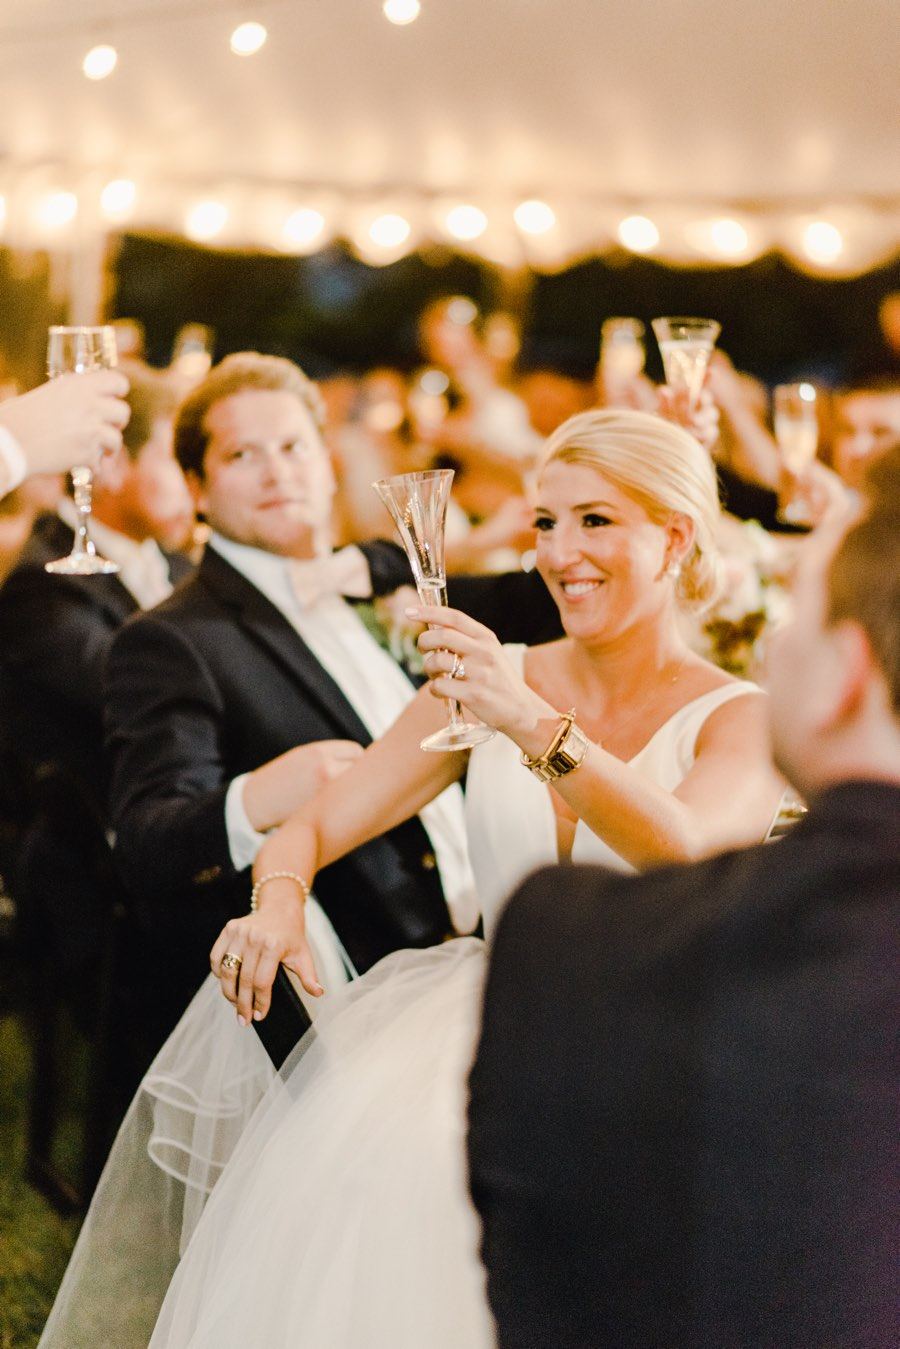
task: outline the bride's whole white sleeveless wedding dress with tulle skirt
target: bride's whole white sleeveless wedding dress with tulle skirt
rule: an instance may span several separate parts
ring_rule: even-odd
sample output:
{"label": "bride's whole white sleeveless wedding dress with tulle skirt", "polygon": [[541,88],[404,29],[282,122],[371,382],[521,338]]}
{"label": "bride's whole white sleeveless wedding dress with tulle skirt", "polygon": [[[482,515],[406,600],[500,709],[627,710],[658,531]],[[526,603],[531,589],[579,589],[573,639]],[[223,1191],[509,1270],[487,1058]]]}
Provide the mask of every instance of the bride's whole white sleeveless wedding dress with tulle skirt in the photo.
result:
{"label": "bride's whole white sleeveless wedding dress with tulle skirt", "polygon": [[[750,689],[695,699],[631,766],[676,788],[707,716]],[[556,819],[502,735],[472,751],[466,812],[490,940],[556,861]],[[582,823],[572,859],[630,869]],[[150,1349],[493,1345],[464,1148],[484,969],[459,938],[332,985],[281,1075],[210,977],[123,1125],[40,1345],[146,1345],[178,1245]]]}

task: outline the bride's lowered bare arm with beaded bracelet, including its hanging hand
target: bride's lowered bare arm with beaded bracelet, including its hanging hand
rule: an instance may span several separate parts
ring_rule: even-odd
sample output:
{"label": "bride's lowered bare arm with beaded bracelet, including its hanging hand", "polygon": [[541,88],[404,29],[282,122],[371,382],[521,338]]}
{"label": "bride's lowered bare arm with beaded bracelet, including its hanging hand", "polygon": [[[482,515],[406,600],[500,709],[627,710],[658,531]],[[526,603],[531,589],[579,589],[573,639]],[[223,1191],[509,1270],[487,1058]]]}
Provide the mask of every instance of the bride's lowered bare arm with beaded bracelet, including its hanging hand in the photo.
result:
{"label": "bride's lowered bare arm with beaded bracelet, including its hanging hand", "polygon": [[[421,689],[381,739],[266,839],[254,862],[254,882],[264,881],[256,912],[231,919],[209,956],[221,992],[242,1021],[262,1020],[267,1013],[281,963],[300,977],[308,993],[318,997],[324,992],[306,942],[305,888],[321,867],[417,815],[459,781],[464,754],[425,754],[418,747],[445,722],[443,706],[428,688]],[[287,757],[281,770],[290,772]],[[290,874],[264,880],[273,873]],[[239,962],[223,969],[225,954]]]}

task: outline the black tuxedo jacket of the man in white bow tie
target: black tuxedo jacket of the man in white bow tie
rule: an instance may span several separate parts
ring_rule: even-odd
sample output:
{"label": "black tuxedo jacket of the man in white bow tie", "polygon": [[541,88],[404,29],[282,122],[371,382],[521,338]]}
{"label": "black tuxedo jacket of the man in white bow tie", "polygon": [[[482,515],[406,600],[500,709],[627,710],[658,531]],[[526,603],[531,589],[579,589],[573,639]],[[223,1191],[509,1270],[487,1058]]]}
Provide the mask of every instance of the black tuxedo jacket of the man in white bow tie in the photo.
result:
{"label": "black tuxedo jacket of the man in white bow tie", "polygon": [[[376,592],[409,580],[393,545],[364,552]],[[524,580],[530,594],[534,583]],[[494,583],[475,583],[482,590],[490,611]],[[529,614],[544,608],[526,607],[525,635]],[[116,857],[147,929],[147,959],[166,971],[173,1018],[208,973],[223,924],[247,912],[250,869],[235,870],[225,831],[228,785],[296,745],[333,738],[370,743],[294,627],[213,549],[190,581],[116,638],[107,677]],[[451,932],[418,817],[325,867],[316,894],[360,971]]]}

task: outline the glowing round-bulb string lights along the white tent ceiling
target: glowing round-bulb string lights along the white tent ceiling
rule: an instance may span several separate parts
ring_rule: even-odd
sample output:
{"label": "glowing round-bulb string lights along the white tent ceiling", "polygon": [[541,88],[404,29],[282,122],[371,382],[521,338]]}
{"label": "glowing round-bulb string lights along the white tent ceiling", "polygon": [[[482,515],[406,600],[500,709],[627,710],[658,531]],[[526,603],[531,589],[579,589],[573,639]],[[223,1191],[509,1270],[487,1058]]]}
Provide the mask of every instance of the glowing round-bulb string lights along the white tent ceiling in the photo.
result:
{"label": "glowing round-bulb string lights along the white tent ceiling", "polygon": [[[89,35],[85,78],[101,81],[134,59],[113,46],[128,28],[221,16],[223,40],[235,57],[264,47],[262,22],[291,0],[131,0],[96,13],[80,8],[50,24],[0,24],[0,50],[20,42]],[[381,3],[397,26],[413,23],[421,0]],[[104,39],[104,40],[97,40]],[[123,171],[124,170],[124,171]],[[1,171],[1,166],[0,166]],[[0,241],[13,247],[77,247],[109,229],[184,235],[217,247],[258,247],[308,254],[344,237],[367,262],[390,263],[428,244],[451,244],[506,266],[553,270],[582,256],[623,248],[684,266],[734,266],[780,250],[799,266],[850,274],[896,252],[900,198],[849,201],[490,200],[479,192],[429,193],[409,185],[351,189],[336,183],[251,179],[152,181],[127,166],[78,170],[18,165],[0,177]]]}

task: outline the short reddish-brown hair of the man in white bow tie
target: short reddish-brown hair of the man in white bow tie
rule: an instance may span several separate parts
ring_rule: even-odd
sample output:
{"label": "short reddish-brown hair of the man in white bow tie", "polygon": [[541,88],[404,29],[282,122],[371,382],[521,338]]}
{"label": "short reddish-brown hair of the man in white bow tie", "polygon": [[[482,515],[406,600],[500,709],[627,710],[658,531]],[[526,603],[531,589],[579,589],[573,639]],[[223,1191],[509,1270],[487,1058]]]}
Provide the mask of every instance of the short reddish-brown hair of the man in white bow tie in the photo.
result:
{"label": "short reddish-brown hair of the man in white bow tie", "polygon": [[321,429],[325,406],[316,384],[300,366],[283,356],[260,356],[256,351],[237,351],[225,356],[206,378],[185,398],[175,418],[175,459],[186,473],[204,476],[204,460],[209,433],[206,413],[213,403],[240,394],[244,389],[260,389],[294,394],[308,409]]}

